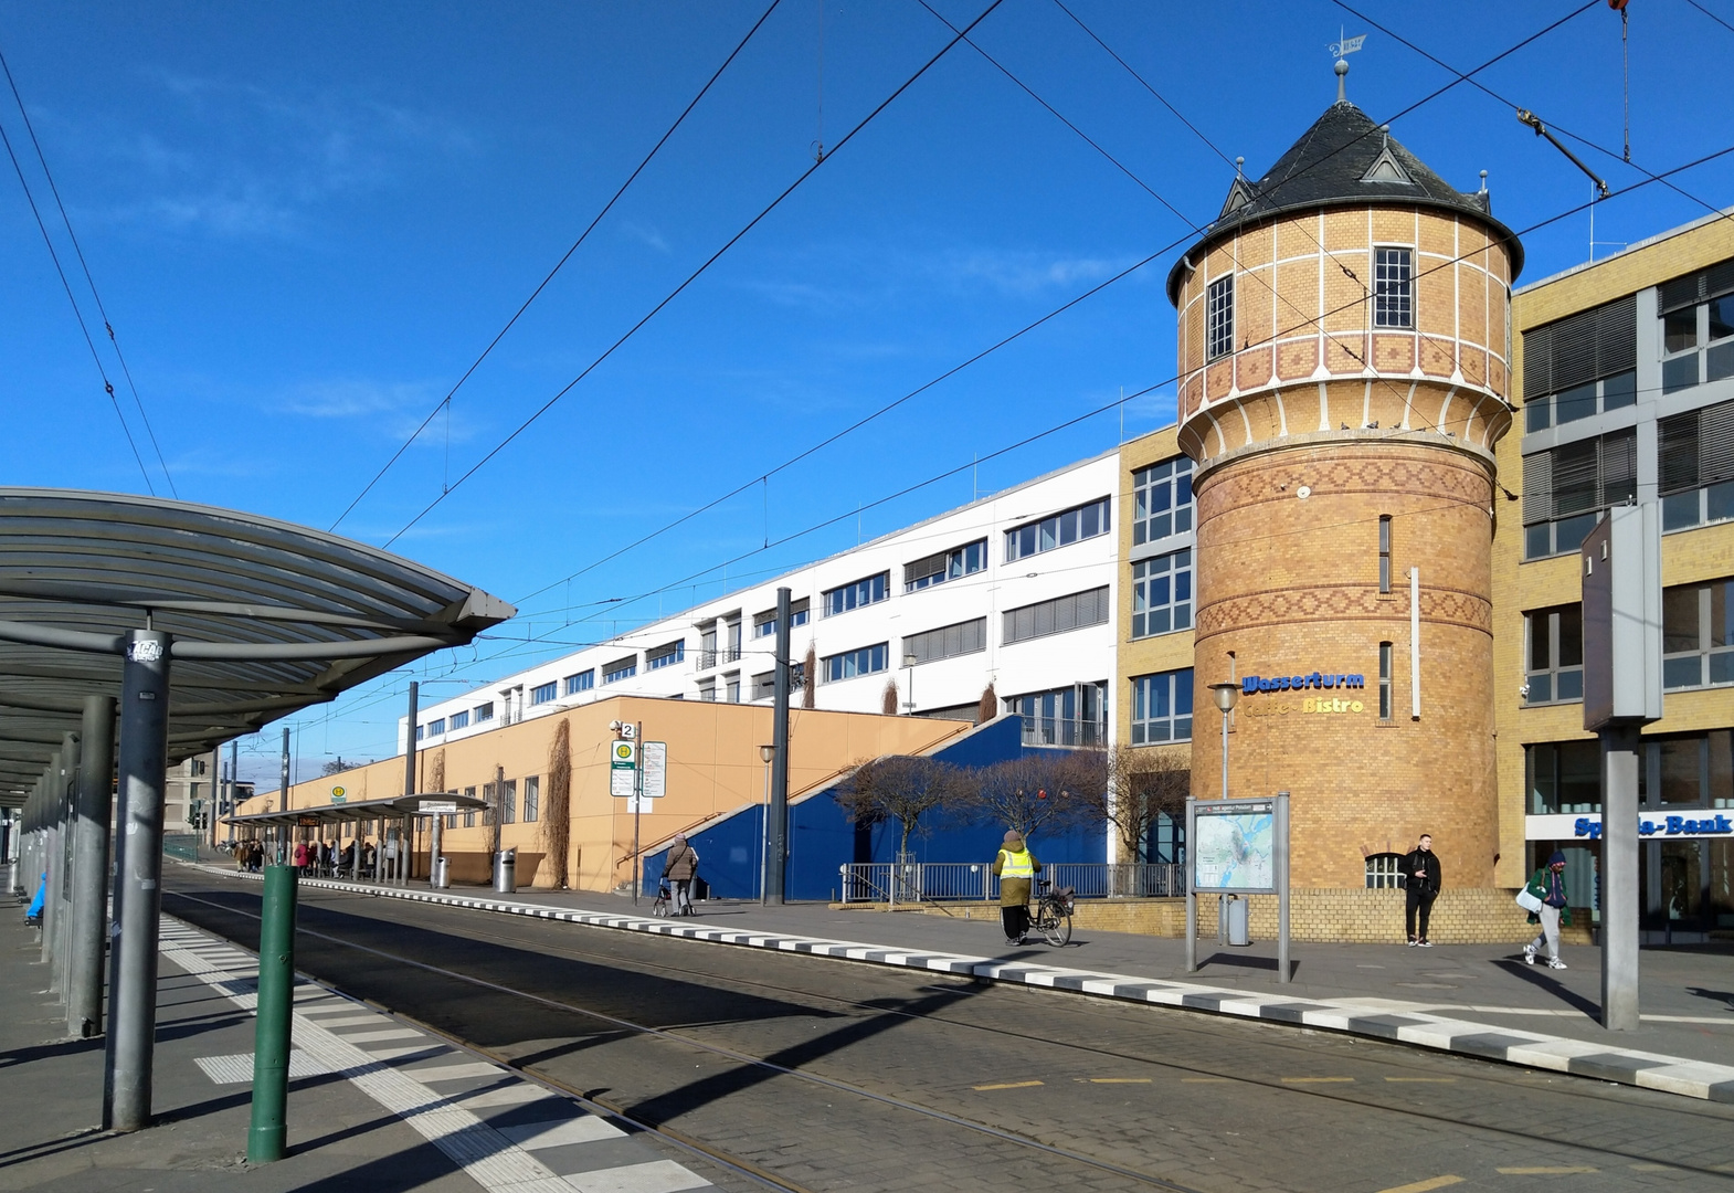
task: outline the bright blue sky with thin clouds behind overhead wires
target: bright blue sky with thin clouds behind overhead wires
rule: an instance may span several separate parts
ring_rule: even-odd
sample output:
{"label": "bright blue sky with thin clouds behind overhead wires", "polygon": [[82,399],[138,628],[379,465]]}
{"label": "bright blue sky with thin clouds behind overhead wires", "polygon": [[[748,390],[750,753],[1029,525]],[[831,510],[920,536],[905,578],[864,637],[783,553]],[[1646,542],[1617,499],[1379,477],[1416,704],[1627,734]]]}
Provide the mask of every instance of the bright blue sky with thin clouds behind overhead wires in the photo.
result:
{"label": "bright blue sky with thin clouds behind overhead wires", "polygon": [[[959,26],[987,7],[929,2]],[[1339,26],[1368,35],[1351,57],[1349,97],[1385,120],[1451,75],[1370,21],[1469,69],[1576,9],[1356,3],[1368,21],[1320,0],[1066,3],[1216,147],[1054,0],[1002,0],[973,40],[1186,220],[961,43],[409,525],[794,182],[815,142],[836,146],[952,36],[917,0],[782,0],[449,409],[338,525],[368,543],[397,536],[392,550],[522,605],[503,636],[420,666],[428,697],[1111,447],[1122,388],[1148,390],[1124,404],[1125,435],[1170,421],[1162,277],[1193,225],[1217,213],[1233,177],[1224,156],[1245,156],[1257,177],[1335,97],[1327,47]],[[1734,0],[1701,3],[1734,24]],[[7,0],[0,50],[180,498],[328,529],[766,5]],[[1731,54],[1734,31],[1691,3],[1632,5],[1637,166],[1672,170],[1734,144],[1734,121],[1717,116]],[[1606,3],[1477,78],[1618,154],[1620,17]],[[10,97],[0,101],[101,336],[28,134]],[[1495,215],[1514,229],[1588,199],[1576,168],[1469,85],[1392,132],[1460,189],[1488,170]],[[1620,194],[1640,170],[1569,144],[1616,191],[1595,212],[1597,241],[1705,215],[1661,186]],[[10,163],[0,170],[10,432],[0,472],[17,486],[142,492],[23,189]],[[1734,154],[1673,180],[1725,206]],[[1574,265],[1590,253],[1588,217],[1524,244],[1519,281]],[[751,484],[1153,253],[1016,343]],[[99,349],[166,494],[132,394]],[[801,536],[827,518],[839,520]],[[763,550],[766,539],[782,543]],[[300,773],[338,753],[388,754],[407,678],[297,718]],[[276,737],[244,742],[243,777],[274,786]]]}

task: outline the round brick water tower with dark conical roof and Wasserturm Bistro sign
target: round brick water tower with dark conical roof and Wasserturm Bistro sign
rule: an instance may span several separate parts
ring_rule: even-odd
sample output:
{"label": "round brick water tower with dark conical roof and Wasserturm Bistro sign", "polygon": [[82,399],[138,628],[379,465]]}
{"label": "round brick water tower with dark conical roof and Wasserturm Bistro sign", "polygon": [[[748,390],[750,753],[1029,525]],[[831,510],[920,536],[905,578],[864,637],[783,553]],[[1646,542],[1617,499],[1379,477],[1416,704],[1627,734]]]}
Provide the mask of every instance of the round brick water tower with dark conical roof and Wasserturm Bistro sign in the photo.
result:
{"label": "round brick water tower with dark conical roof and Wasserturm Bistro sign", "polygon": [[[1347,102],[1346,73],[1169,272],[1196,751],[1217,732],[1209,685],[1238,681],[1229,794],[1292,792],[1294,886],[1342,891],[1297,905],[1313,938],[1344,938],[1323,921],[1353,919],[1368,858],[1420,832],[1450,888],[1493,884],[1493,447],[1522,267],[1486,184],[1429,170]],[[1221,794],[1214,761],[1193,794]]]}

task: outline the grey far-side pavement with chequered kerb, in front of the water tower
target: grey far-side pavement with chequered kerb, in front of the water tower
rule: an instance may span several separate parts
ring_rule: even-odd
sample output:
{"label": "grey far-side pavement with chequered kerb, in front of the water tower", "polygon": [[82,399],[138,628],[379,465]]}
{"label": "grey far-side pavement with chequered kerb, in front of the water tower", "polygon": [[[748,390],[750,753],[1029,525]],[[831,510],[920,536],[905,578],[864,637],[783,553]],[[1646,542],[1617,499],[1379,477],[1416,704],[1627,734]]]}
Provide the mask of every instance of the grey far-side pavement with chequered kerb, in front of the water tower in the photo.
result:
{"label": "grey far-side pavement with chequered kerb, in front of the water tower", "polygon": [[1573,968],[1555,971],[1526,966],[1502,945],[1297,943],[1295,976],[1283,985],[1268,942],[1226,949],[1202,940],[1200,971],[1186,975],[1184,942],[1158,936],[1091,929],[1066,949],[1006,947],[992,905],[950,907],[945,916],[709,902],[694,919],[668,921],[650,917],[649,900],[590,891],[309,884],[1351,1032],[1734,1103],[1734,950],[1646,949],[1642,1025],[1607,1032],[1595,1018],[1599,955],[1581,947],[1566,952]]}

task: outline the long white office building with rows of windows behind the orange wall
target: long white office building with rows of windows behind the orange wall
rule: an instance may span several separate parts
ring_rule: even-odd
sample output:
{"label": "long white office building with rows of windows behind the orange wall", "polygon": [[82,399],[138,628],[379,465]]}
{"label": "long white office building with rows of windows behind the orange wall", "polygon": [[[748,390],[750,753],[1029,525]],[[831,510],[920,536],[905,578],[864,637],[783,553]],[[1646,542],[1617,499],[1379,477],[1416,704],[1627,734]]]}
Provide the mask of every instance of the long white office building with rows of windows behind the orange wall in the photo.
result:
{"label": "long white office building with rows of windows behind the orange wall", "polygon": [[[1115,725],[1118,451],[694,605],[420,713],[421,746],[612,695],[770,702],[777,590],[792,591],[794,707],[975,720],[1030,744]],[[399,723],[399,749],[406,723]]]}

